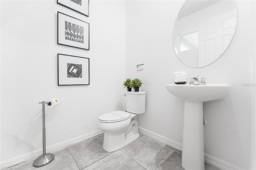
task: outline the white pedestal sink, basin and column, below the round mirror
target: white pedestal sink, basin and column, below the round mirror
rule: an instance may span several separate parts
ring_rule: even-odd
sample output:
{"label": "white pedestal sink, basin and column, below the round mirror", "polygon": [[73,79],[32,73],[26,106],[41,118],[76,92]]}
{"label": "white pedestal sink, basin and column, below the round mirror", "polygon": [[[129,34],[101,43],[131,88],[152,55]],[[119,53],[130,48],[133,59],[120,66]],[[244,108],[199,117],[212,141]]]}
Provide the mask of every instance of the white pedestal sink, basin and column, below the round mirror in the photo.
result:
{"label": "white pedestal sink, basin and column, below the round mirror", "polygon": [[185,101],[182,167],[186,170],[204,170],[203,102],[224,99],[230,85],[169,84],[165,87],[172,95]]}

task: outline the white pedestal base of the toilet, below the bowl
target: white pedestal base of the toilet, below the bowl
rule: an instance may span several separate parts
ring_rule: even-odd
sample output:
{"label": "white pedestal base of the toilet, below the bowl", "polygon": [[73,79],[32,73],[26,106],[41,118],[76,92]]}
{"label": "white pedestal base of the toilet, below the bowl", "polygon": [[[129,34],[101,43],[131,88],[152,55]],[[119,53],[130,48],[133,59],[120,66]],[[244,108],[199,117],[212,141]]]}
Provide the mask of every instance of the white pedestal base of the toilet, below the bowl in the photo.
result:
{"label": "white pedestal base of the toilet, below the bowl", "polygon": [[127,130],[117,133],[104,132],[103,149],[107,152],[113,152],[130,144],[139,136],[138,122],[134,119]]}

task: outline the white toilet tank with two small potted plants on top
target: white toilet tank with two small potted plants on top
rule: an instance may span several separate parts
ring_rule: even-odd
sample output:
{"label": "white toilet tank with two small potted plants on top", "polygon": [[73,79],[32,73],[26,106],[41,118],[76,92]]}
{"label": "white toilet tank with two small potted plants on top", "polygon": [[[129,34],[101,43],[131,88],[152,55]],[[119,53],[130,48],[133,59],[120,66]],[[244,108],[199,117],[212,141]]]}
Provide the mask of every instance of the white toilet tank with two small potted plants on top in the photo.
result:
{"label": "white toilet tank with two small potted plants on top", "polygon": [[145,113],[145,101],[146,101],[146,91],[140,92],[130,92],[126,91],[125,105],[126,111],[134,114]]}

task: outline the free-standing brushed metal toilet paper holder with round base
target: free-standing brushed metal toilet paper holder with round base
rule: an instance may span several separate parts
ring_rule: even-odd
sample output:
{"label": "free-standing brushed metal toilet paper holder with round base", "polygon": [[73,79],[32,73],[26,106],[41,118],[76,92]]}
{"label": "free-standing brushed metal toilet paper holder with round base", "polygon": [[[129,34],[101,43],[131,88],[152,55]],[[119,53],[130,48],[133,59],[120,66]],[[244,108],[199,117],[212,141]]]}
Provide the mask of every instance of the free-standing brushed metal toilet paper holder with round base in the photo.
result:
{"label": "free-standing brushed metal toilet paper holder with round base", "polygon": [[45,109],[44,109],[44,104],[47,104],[48,106],[52,105],[51,102],[48,101],[42,101],[39,102],[40,104],[42,103],[42,112],[43,112],[43,154],[38,156],[36,160],[33,162],[34,167],[40,167],[40,166],[45,166],[52,162],[54,159],[54,154],[51,153],[46,153],[46,146],[45,146]]}

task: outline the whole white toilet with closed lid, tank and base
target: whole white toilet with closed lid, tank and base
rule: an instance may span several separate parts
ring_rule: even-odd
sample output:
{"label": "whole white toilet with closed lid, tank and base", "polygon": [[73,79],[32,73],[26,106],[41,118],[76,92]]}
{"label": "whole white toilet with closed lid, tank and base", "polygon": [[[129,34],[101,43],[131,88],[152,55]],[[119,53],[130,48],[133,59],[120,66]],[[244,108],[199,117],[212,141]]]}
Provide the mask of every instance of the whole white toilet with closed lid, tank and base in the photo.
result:
{"label": "whole white toilet with closed lid, tank and base", "polygon": [[137,115],[145,113],[146,92],[124,93],[126,112],[113,111],[99,117],[104,131],[103,148],[107,152],[118,150],[139,137]]}

